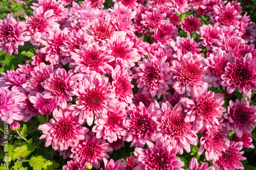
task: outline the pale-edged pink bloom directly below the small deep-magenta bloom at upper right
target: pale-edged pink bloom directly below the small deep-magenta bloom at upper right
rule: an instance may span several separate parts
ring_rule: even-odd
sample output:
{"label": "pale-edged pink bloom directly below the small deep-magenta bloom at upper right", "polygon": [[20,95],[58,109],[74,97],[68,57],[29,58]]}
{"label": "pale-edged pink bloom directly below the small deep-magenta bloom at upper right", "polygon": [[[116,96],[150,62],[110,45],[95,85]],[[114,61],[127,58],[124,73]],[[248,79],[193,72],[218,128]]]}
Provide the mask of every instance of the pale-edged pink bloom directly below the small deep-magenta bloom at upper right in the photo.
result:
{"label": "pale-edged pink bloom directly below the small deep-magenta bloom at upper right", "polygon": [[190,37],[176,37],[176,43],[170,43],[170,45],[174,48],[174,51],[176,52],[174,54],[174,57],[177,57],[178,59],[181,58],[183,55],[187,54],[188,52],[192,54],[199,54],[199,52],[202,50],[201,48],[198,48],[198,45],[200,44],[194,41],[194,38]]}

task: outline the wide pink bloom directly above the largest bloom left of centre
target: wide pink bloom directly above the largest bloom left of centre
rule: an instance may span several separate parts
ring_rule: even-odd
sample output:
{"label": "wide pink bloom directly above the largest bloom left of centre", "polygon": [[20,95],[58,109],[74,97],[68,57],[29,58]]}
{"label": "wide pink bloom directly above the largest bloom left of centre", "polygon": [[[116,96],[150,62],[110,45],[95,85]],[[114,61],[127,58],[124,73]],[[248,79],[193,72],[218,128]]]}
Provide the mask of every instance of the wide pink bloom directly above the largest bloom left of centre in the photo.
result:
{"label": "wide pink bloom directly above the largest bloom left of centre", "polygon": [[74,72],[91,74],[93,71],[101,75],[111,72],[110,62],[114,60],[110,56],[110,51],[106,50],[105,46],[98,44],[83,44],[79,50],[75,49],[71,52],[71,58],[74,60],[71,65],[74,65]]}

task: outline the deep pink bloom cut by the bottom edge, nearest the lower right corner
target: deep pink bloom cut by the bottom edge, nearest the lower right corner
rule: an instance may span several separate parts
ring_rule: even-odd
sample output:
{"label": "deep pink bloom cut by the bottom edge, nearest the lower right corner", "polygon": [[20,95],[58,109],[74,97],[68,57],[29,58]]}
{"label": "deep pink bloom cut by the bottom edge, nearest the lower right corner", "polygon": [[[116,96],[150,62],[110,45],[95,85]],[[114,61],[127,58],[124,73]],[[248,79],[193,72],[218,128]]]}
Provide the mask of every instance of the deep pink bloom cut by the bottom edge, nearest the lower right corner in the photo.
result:
{"label": "deep pink bloom cut by the bottom edge, nearest the lower right corner", "polygon": [[231,141],[228,149],[222,151],[219,159],[217,161],[212,161],[214,165],[217,166],[218,170],[233,170],[233,169],[244,169],[241,160],[246,160],[246,157],[243,157],[243,152],[239,152],[243,149],[243,142]]}

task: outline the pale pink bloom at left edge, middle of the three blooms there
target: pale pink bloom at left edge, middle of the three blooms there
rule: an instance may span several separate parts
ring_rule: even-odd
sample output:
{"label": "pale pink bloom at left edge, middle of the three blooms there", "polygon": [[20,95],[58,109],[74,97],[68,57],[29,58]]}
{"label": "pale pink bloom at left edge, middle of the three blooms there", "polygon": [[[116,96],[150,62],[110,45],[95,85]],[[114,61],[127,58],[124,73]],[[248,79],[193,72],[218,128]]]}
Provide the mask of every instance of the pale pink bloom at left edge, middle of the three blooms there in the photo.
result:
{"label": "pale pink bloom at left edge, middle of the three blooms there", "polygon": [[12,91],[24,91],[22,85],[27,81],[27,76],[16,70],[7,70],[7,73],[1,73],[3,77],[0,77],[0,87],[9,88]]}

